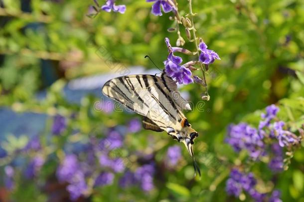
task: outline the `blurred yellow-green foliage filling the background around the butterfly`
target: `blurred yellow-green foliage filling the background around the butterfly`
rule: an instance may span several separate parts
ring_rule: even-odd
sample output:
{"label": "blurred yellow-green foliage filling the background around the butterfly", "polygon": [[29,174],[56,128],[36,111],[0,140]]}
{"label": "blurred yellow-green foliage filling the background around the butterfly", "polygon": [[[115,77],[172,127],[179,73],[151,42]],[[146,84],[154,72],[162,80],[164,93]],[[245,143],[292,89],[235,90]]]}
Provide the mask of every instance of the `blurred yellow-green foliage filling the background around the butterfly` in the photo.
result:
{"label": "blurred yellow-green foliage filling the background around the butterfly", "polygon": [[[0,106],[51,116],[78,113],[66,131],[69,138],[74,129],[80,130],[72,142],[86,139],[86,134],[96,127],[124,125],[135,116],[96,112],[92,107],[98,100],[95,97],[83,99],[80,106],[63,98],[62,88],[68,80],[111,72],[106,58],[97,54],[100,47],[109,50],[114,62],[150,68],[152,64],[144,58],[148,54],[162,68],[167,57],[164,37],[172,43],[177,39],[176,33],[166,31],[172,26],[170,13],[152,15],[151,3],[145,0],[125,0],[125,14],[101,12],[95,18],[85,15],[91,1],[0,2],[4,5],[0,7]],[[182,13],[188,12],[187,0],[178,0],[178,6]],[[188,163],[184,162],[175,173],[164,171],[162,179],[155,179],[156,189],[148,196],[135,188],[117,189],[114,183],[96,191],[92,201],[232,201],[225,194],[225,179],[228,166],[238,165],[241,160],[224,144],[227,125],[248,121],[257,126],[260,110],[272,103],[279,103],[279,117],[290,121],[293,131],[304,124],[304,1],[194,0],[193,9],[198,13],[194,18],[197,35],[221,57],[210,66],[207,75],[211,100],[204,102],[203,112],[194,107],[186,113],[200,134],[194,150],[202,178],[192,179],[191,163],[183,150]],[[185,47],[194,51],[191,43]],[[45,88],[46,99],[37,100],[35,94]],[[194,105],[202,102],[197,93],[203,92],[199,85],[183,86],[182,91],[190,93]],[[150,145],[151,137],[154,146]],[[24,144],[21,139],[24,137],[16,140],[8,136],[14,147]],[[150,148],[157,151],[156,160],[163,158],[168,145],[176,144],[164,134],[147,131],[129,134],[126,139],[127,150]],[[54,147],[59,146],[58,143]],[[295,153],[289,170],[275,176],[283,201],[304,202],[303,165],[302,147]],[[45,176],[53,174],[54,164],[45,167]],[[258,165],[254,171],[263,180],[270,180],[271,171],[261,167]],[[13,193],[14,199],[40,196],[33,182],[24,184]],[[261,185],[261,189],[263,186],[274,185]],[[27,197],[24,193],[28,193]],[[45,200],[43,195],[37,198]]]}

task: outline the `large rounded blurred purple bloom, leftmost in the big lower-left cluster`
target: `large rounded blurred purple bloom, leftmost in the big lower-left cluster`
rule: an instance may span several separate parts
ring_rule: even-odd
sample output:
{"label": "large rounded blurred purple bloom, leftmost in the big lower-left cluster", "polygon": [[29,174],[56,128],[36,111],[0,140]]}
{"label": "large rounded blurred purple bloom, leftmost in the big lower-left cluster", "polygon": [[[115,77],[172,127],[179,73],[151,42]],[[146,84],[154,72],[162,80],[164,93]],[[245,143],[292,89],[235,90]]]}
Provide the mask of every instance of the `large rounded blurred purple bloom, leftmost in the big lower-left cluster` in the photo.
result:
{"label": "large rounded blurred purple bloom, leftmost in the big lower-left cluster", "polygon": [[65,156],[65,159],[58,167],[56,176],[59,182],[70,182],[74,174],[79,170],[77,157],[73,154]]}

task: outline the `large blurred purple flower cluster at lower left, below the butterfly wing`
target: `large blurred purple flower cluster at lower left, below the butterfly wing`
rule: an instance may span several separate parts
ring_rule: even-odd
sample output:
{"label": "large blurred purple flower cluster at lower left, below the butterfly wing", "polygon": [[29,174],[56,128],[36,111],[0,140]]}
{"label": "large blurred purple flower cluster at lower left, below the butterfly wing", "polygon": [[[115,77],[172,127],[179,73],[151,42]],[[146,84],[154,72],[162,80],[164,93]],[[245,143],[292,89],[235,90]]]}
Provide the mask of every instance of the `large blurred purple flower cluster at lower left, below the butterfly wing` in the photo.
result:
{"label": "large blurred purple flower cluster at lower left, below the butterfly wing", "polygon": [[[88,145],[85,160],[82,155],[66,155],[60,166],[57,168],[57,179],[59,182],[67,182],[67,191],[72,201],[87,194],[90,188],[87,179],[93,178],[94,187],[113,184],[114,173],[121,173],[125,169],[125,164],[121,158],[112,158],[112,150],[123,145],[122,136],[115,130],[111,130],[108,135],[101,140],[92,140]],[[96,164],[99,162],[99,164]],[[96,172],[98,176],[96,177]],[[94,174],[94,175],[93,175]]]}

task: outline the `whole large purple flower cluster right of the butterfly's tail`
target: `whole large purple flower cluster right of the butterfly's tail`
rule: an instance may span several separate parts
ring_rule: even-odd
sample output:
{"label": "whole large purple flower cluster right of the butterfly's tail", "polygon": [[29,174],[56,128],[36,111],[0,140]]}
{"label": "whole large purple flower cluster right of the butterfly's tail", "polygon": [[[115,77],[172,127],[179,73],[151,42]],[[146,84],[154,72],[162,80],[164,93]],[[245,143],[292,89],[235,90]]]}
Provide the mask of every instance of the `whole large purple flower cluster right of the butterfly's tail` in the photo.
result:
{"label": "whole large purple flower cluster right of the butterfly's tail", "polygon": [[236,152],[247,150],[249,155],[258,160],[261,155],[272,157],[269,168],[275,172],[283,171],[283,151],[282,148],[291,148],[299,144],[300,137],[288,130],[284,130],[283,121],[273,122],[277,119],[279,108],[275,105],[266,107],[266,114],[262,114],[259,129],[252,128],[246,123],[230,125],[226,142],[230,144]]}

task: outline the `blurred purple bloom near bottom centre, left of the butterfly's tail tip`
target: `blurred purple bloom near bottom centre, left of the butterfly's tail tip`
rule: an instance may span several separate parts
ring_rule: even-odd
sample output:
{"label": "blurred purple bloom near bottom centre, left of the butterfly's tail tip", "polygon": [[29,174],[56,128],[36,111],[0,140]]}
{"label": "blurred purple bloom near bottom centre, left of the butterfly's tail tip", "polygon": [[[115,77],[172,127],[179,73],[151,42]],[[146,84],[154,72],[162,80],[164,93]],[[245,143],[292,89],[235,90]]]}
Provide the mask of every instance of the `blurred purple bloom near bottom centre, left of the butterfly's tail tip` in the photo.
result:
{"label": "blurred purple bloom near bottom centre, left of the butterfly's tail tip", "polygon": [[153,185],[153,175],[154,167],[152,165],[146,164],[139,167],[135,172],[135,178],[141,184],[142,190],[149,192],[154,188]]}

